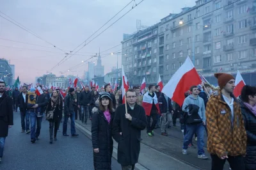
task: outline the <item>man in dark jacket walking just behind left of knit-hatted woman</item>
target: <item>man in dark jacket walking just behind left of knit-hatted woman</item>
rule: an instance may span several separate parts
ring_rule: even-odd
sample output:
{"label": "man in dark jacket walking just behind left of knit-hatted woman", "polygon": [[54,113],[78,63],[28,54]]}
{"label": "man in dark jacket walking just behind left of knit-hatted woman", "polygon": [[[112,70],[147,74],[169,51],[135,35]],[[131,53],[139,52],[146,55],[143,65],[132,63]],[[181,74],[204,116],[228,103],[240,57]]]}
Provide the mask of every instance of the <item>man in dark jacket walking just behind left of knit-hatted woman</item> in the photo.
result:
{"label": "man in dark jacket walking just behind left of knit-hatted woman", "polygon": [[92,113],[90,110],[90,104],[92,102],[92,93],[89,91],[89,86],[85,86],[84,91],[81,93],[80,101],[78,108],[81,108],[81,114],[82,114],[82,123],[85,123],[87,125],[88,120],[88,112],[90,118],[92,118]]}

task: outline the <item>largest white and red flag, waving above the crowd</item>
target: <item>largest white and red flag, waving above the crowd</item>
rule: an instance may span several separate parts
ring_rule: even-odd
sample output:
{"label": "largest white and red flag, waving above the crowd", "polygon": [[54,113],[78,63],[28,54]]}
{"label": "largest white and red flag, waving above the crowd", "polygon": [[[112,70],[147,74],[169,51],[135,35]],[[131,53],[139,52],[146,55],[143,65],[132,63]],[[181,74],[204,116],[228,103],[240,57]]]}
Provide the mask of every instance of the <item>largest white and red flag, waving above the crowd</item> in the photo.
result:
{"label": "largest white and red flag, waving above the crowd", "polygon": [[183,104],[185,96],[184,93],[189,90],[191,86],[197,86],[202,81],[196,72],[195,66],[188,57],[182,66],[174,73],[170,81],[164,86],[162,93],[180,106]]}

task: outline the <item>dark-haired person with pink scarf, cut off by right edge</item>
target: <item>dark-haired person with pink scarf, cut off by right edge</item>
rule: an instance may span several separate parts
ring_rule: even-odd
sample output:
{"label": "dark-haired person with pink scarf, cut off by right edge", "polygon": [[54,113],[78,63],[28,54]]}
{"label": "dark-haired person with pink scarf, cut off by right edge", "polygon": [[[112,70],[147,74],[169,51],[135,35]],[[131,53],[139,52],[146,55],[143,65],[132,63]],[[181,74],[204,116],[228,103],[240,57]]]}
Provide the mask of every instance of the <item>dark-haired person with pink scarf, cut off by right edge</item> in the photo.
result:
{"label": "dark-haired person with pink scarf, cut off by right edge", "polygon": [[256,169],[256,87],[244,86],[238,97],[247,134],[245,169]]}

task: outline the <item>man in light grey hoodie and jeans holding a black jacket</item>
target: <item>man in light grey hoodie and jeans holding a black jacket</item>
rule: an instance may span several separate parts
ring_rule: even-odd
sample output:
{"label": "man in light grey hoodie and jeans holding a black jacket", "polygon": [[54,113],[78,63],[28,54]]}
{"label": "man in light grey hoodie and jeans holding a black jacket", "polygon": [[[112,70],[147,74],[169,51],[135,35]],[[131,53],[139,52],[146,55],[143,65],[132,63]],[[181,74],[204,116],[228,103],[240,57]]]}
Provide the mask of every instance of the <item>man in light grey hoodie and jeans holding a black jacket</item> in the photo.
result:
{"label": "man in light grey hoodie and jeans holding a black jacket", "polygon": [[182,111],[187,112],[186,116],[186,134],[184,137],[183,150],[184,155],[188,154],[188,145],[193,135],[197,135],[198,158],[208,158],[204,154],[204,125],[205,125],[205,106],[204,100],[198,97],[198,87],[191,86],[191,95],[185,98],[182,105]]}

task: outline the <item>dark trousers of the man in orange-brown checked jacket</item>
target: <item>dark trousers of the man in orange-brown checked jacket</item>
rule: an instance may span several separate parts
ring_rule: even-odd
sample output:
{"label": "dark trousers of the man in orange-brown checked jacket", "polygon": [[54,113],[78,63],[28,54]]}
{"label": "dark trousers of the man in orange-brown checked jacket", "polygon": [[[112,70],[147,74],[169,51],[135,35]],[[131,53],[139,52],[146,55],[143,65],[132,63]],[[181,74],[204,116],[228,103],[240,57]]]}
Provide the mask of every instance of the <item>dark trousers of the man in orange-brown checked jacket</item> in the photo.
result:
{"label": "dark trousers of the man in orange-brown checked jacket", "polygon": [[[211,158],[212,158],[212,170],[223,170],[226,159],[221,159],[217,155],[211,155]],[[243,156],[237,156],[237,157],[228,156],[227,160],[232,170],[245,169]]]}

